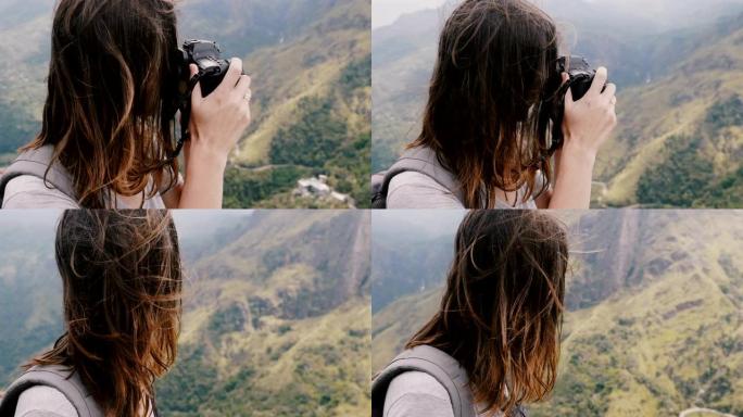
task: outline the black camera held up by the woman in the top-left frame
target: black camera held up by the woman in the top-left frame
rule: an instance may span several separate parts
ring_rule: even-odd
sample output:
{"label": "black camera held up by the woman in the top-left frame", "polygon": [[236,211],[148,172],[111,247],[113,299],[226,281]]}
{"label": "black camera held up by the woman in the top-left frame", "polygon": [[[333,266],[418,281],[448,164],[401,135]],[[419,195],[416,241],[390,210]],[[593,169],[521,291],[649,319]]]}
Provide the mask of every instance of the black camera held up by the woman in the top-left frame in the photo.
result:
{"label": "black camera held up by the woman in the top-left frame", "polygon": [[203,97],[211,94],[225,79],[227,70],[229,70],[229,61],[222,59],[222,50],[216,42],[188,40],[179,52],[181,55],[179,65],[181,79],[188,83],[190,78],[189,65],[194,64],[199,68],[199,83]]}

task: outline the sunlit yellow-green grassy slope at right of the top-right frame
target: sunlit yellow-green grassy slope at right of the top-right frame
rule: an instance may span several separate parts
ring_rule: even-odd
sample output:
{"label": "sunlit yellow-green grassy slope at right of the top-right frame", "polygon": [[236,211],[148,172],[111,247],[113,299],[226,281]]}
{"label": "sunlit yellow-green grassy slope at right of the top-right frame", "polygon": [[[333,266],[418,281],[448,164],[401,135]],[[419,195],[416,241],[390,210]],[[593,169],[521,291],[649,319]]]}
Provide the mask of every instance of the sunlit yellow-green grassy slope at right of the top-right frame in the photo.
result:
{"label": "sunlit yellow-green grassy slope at right of the top-right frame", "polygon": [[[667,141],[678,135],[695,135],[707,111],[718,100],[743,91],[743,30],[694,51],[670,71],[669,76],[619,94],[624,105],[614,140],[600,157],[599,177],[609,180],[606,202],[635,203],[638,181],[651,166],[668,157]],[[740,127],[728,138],[708,143],[705,157],[718,177],[740,166],[743,148]],[[624,156],[617,156],[624,155]]]}

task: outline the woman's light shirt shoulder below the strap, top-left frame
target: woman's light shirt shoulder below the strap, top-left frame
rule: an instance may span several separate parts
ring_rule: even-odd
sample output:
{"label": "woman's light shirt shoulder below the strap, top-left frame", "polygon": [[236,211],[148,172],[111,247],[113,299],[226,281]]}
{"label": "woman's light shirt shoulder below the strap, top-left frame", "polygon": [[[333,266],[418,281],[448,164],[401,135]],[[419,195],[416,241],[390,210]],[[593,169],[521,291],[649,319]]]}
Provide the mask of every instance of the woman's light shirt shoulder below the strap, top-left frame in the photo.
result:
{"label": "woman's light shirt shoulder below the strap, top-left frame", "polygon": [[3,208],[79,208],[77,202],[56,188],[49,188],[42,179],[22,175],[5,186]]}

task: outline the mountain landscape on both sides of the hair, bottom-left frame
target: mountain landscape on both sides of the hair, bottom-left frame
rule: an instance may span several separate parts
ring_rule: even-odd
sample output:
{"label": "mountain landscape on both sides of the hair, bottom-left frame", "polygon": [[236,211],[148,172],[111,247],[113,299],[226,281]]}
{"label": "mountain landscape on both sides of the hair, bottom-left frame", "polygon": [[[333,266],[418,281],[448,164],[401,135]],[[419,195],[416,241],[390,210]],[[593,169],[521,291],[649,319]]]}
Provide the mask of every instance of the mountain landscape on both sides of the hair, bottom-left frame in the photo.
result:
{"label": "mountain landscape on both sides of the hair, bottom-left frame", "polygon": [[[60,334],[61,288],[55,219],[2,218],[17,238],[0,243],[4,386]],[[176,225],[188,273],[178,361],[158,383],[164,415],[368,413],[367,215],[179,213]]]}

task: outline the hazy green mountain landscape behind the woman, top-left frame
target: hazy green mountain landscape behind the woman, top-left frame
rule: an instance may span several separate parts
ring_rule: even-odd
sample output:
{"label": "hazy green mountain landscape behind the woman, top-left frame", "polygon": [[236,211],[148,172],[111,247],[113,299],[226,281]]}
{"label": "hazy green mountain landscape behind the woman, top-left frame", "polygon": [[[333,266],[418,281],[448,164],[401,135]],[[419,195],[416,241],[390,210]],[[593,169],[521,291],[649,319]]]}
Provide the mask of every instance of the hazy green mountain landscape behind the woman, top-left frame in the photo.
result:
{"label": "hazy green mountain landscape behind the woman, top-left frame", "polygon": [[[15,58],[0,64],[0,164],[39,130],[52,8],[0,5],[0,53]],[[368,204],[368,1],[186,0],[178,9],[182,38],[217,40],[254,77],[253,124],[232,155],[225,205],[331,206],[291,192],[316,175]]]}

